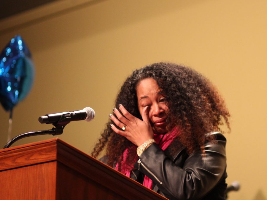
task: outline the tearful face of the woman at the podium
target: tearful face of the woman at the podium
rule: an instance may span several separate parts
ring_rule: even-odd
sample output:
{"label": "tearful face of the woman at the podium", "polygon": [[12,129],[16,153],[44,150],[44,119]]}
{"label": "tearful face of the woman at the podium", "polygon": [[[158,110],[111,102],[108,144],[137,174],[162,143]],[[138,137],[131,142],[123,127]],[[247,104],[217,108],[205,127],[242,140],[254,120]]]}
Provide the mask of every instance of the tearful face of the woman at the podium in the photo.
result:
{"label": "tearful face of the woman at the podium", "polygon": [[167,133],[166,118],[169,108],[156,80],[153,78],[141,80],[136,86],[136,94],[141,115],[143,109],[146,106],[150,106],[148,116],[153,132],[155,134]]}

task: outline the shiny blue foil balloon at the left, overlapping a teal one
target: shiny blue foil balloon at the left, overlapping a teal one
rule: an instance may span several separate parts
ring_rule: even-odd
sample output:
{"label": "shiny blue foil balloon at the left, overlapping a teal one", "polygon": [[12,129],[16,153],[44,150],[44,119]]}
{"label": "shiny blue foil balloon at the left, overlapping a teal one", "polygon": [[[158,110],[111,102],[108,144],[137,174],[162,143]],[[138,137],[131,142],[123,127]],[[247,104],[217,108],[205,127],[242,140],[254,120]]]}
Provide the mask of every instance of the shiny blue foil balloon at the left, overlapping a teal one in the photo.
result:
{"label": "shiny blue foil balloon at the left, overlapping a teal one", "polygon": [[31,90],[34,64],[23,39],[11,39],[0,55],[0,101],[6,111],[13,109]]}

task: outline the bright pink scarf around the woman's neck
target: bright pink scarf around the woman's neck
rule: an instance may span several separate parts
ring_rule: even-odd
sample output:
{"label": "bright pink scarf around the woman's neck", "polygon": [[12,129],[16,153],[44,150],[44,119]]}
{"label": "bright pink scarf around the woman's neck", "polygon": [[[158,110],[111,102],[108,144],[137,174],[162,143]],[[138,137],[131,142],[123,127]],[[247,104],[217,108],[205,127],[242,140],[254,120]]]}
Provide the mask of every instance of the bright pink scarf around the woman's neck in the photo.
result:
{"label": "bright pink scarf around the woman's neck", "polygon": [[[162,135],[154,134],[154,140],[156,141],[158,146],[164,151],[165,149],[167,149],[169,144],[174,140],[174,138],[178,135],[179,135],[179,132],[178,132],[177,128],[174,128],[172,131],[170,131],[164,135],[163,134]],[[121,162],[121,173],[130,177],[131,170],[129,169],[129,166],[126,163],[126,157],[127,157],[128,151],[129,150],[126,149],[123,152],[123,161]],[[133,168],[133,167],[134,166],[132,166],[131,168]],[[115,170],[118,170],[118,169],[119,169],[119,164],[117,163]],[[150,178],[148,178],[146,175],[144,177],[143,185],[146,186],[147,188],[152,189],[152,180]]]}

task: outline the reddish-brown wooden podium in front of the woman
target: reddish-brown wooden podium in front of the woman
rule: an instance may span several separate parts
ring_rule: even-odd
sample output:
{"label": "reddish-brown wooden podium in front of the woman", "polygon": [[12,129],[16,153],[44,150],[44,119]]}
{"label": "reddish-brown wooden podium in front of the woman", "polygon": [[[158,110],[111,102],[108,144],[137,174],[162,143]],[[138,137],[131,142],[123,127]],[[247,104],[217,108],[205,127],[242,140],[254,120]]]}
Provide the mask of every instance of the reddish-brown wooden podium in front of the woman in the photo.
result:
{"label": "reddish-brown wooden podium in front of the woman", "polygon": [[0,150],[0,199],[166,198],[53,138]]}

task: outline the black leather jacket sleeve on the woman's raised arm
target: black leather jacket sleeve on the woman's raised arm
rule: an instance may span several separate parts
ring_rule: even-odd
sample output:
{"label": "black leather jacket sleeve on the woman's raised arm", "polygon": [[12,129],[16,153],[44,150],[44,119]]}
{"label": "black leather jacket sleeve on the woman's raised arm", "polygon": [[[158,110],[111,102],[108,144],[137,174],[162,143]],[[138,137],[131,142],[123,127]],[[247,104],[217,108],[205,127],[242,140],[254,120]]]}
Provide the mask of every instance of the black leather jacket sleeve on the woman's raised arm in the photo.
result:
{"label": "black leather jacket sleeve on the woman's raised arm", "polygon": [[139,157],[139,170],[169,199],[199,199],[216,186],[226,168],[226,139],[216,135],[217,143],[206,143],[205,157],[198,151],[182,164],[173,162],[153,143]]}

